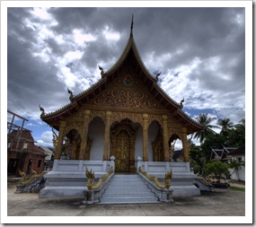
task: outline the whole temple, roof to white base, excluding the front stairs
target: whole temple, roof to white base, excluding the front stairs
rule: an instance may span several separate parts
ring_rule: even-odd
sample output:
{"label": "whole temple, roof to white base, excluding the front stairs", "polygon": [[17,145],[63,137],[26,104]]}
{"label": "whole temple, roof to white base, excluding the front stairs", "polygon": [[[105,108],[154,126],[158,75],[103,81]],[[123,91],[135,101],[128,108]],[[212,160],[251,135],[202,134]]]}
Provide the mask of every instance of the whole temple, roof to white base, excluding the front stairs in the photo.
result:
{"label": "whole temple, roof to white base, excluding the front stairs", "polygon": [[[171,167],[172,179],[177,180],[176,195],[199,195],[193,186],[195,175],[190,172],[187,135],[203,127],[182,111],[183,100],[178,103],[161,89],[159,74],[148,72],[137,50],[133,20],[128,43],[116,64],[108,70],[99,68],[102,78],[92,87],[76,95],[67,90],[70,103],[65,107],[52,113],[41,108],[40,118],[58,135],[54,134],[53,171],[46,175],[49,186],[40,197],[70,196],[71,191],[72,196],[83,196],[84,171],[92,166],[100,178],[113,165],[110,160],[114,160],[115,173],[137,173],[142,167],[162,179]],[[181,163],[172,162],[171,144],[178,138],[182,142]],[[72,177],[66,177],[67,171],[72,171]],[[50,183],[52,180],[56,183]],[[64,184],[70,189],[63,188]],[[181,189],[184,185],[187,188]]]}

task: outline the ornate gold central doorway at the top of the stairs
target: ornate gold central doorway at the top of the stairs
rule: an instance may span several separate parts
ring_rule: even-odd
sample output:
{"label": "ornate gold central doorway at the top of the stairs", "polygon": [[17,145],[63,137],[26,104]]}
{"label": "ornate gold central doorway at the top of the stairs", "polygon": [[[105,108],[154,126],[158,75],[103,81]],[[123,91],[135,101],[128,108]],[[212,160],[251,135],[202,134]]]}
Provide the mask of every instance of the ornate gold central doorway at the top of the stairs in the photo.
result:
{"label": "ornate gold central doorway at the top of the stairs", "polygon": [[128,124],[122,121],[111,130],[110,155],[114,155],[116,172],[135,171],[135,131]]}

